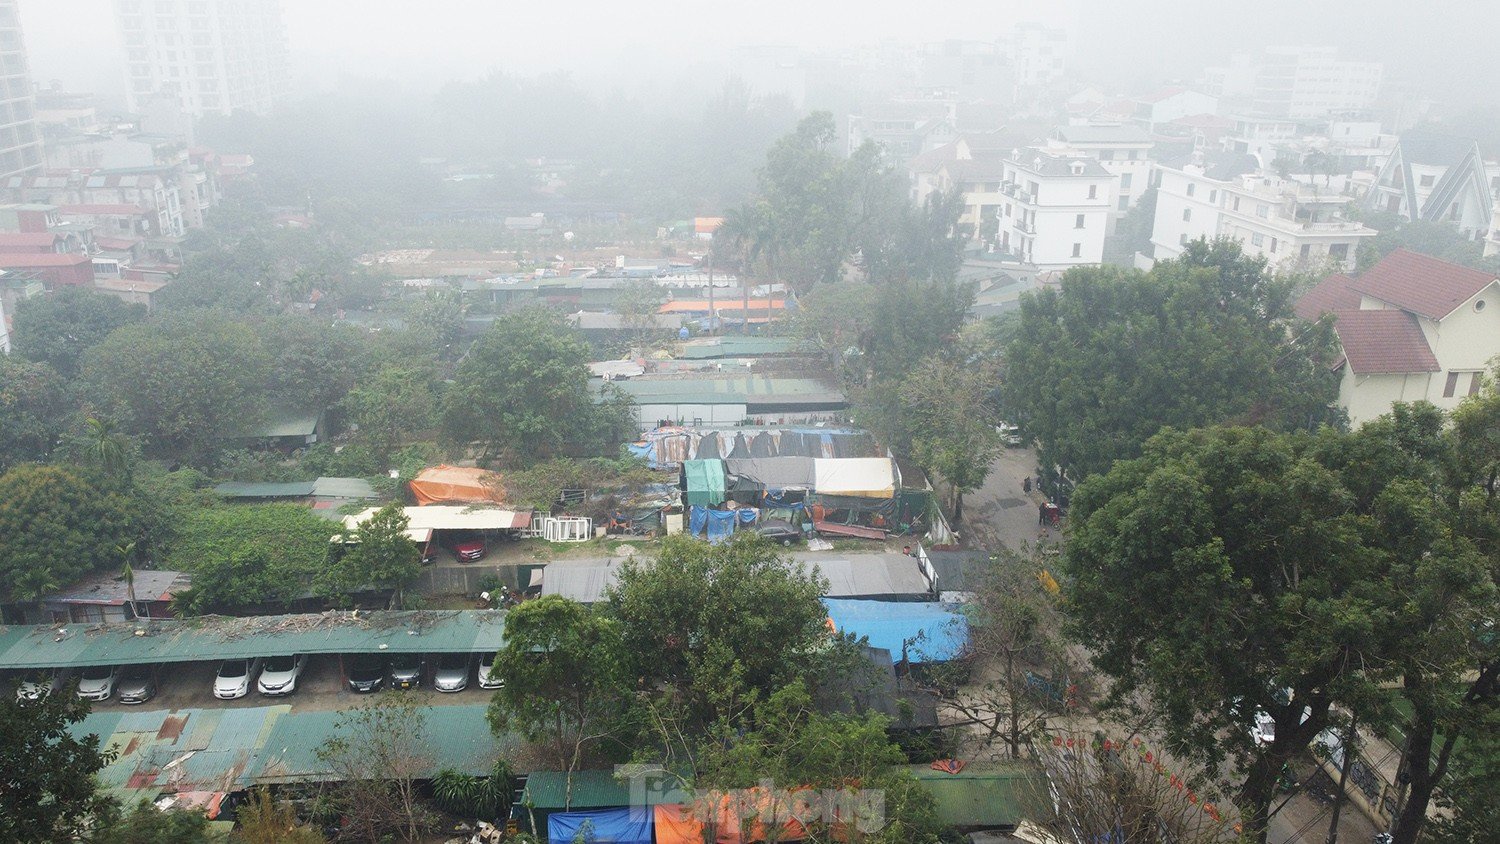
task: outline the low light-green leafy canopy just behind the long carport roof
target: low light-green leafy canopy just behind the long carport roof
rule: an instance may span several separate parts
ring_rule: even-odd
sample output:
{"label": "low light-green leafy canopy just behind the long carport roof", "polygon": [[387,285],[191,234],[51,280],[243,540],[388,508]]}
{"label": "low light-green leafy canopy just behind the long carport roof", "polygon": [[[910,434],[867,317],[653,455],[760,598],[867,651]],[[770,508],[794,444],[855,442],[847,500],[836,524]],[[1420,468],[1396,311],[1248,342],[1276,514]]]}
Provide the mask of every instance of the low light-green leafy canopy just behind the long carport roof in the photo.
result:
{"label": "low light-green leafy canopy just behind the long carport roof", "polygon": [[192,573],[178,606],[189,613],[286,606],[327,567],[334,532],[296,504],[189,511],[166,555],[168,568]]}

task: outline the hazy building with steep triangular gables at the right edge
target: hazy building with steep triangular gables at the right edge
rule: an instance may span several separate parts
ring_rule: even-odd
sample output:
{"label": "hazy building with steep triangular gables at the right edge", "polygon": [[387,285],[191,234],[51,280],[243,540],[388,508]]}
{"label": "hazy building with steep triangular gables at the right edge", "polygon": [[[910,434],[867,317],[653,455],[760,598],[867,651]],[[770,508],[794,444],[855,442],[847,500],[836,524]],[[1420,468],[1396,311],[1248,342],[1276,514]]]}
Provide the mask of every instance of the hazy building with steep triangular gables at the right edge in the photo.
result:
{"label": "hazy building with steep triangular gables at the right edge", "polygon": [[1365,204],[1402,220],[1446,222],[1484,240],[1496,204],[1491,178],[1478,141],[1407,132],[1396,141]]}

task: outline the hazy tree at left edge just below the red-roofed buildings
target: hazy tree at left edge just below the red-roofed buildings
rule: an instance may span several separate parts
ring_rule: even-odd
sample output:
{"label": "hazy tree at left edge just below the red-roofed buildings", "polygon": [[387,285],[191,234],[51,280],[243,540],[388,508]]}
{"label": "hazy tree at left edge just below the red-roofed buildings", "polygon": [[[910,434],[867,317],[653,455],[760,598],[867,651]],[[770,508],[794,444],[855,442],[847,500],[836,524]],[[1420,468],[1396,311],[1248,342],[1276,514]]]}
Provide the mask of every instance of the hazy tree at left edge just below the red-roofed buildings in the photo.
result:
{"label": "hazy tree at left edge just below the red-roofed buildings", "polygon": [[72,378],[78,375],[84,352],[117,328],[144,321],[146,307],[88,288],[68,286],[21,301],[14,319],[15,352]]}

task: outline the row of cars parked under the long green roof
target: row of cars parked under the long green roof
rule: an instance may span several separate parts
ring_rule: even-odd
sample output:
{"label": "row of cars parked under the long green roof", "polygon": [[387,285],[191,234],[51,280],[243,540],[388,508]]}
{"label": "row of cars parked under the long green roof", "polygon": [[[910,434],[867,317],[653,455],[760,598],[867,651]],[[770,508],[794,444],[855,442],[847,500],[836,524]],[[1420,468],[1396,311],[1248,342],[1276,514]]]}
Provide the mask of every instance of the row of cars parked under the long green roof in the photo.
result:
{"label": "row of cars parked under the long green roof", "polygon": [[[432,669],[432,687],[438,691],[464,691],[470,676],[476,675],[480,688],[500,688],[501,681],[490,679],[495,654],[440,654]],[[213,676],[213,696],[219,700],[238,700],[255,691],[267,697],[282,697],[297,691],[297,679],[308,667],[306,654],[285,657],[254,657],[225,660]],[[422,654],[354,654],[345,657],[350,690],[356,693],[380,691],[381,688],[420,688],[428,675],[428,660]],[[57,670],[48,678],[24,681],[16,688],[21,700],[38,700],[63,688],[72,679],[72,672]],[[146,703],[156,697],[156,666],[93,666],[78,675],[78,697],[102,702],[114,697],[120,703]]]}

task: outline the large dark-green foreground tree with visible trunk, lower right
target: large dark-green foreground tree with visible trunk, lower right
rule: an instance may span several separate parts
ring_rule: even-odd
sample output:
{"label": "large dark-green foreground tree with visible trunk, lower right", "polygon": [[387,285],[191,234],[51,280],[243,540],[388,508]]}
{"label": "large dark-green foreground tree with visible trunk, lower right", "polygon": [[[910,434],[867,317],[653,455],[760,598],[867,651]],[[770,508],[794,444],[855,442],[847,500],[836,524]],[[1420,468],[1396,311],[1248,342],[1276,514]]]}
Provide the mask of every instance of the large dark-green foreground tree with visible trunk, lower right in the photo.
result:
{"label": "large dark-green foreground tree with visible trunk, lower right", "polygon": [[[1072,633],[1114,681],[1114,700],[1144,693],[1176,750],[1239,763],[1238,805],[1256,840],[1282,765],[1332,705],[1360,712],[1386,694],[1389,636],[1412,586],[1394,585],[1431,577],[1406,537],[1428,502],[1413,471],[1377,433],[1167,430],[1077,490]],[[1275,720],[1258,750],[1256,711]]]}

